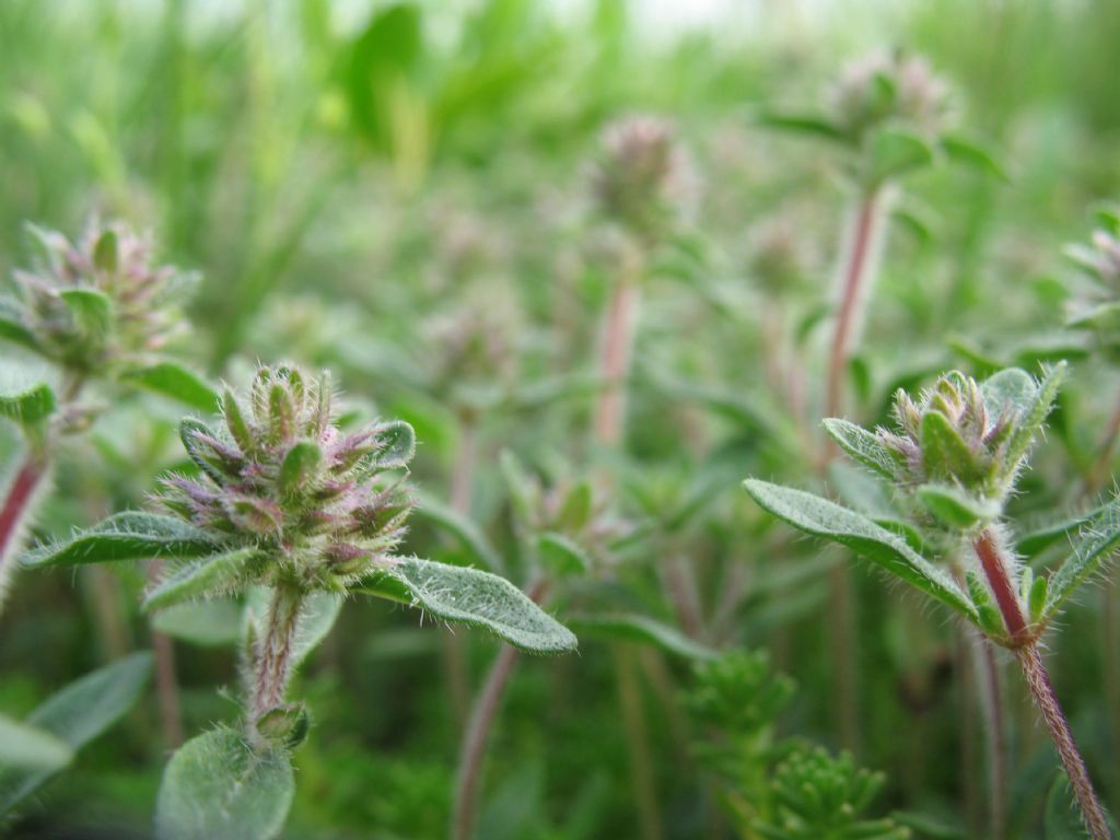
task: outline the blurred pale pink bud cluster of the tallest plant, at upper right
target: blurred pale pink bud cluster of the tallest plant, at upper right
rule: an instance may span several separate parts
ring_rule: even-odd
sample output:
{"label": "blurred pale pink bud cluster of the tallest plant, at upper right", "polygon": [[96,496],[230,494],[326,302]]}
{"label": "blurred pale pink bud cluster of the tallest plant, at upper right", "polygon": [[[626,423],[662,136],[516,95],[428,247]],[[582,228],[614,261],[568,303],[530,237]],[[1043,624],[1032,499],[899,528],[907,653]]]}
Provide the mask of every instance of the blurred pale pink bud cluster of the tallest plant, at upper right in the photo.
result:
{"label": "blurred pale pink bud cluster of the tallest plant, at upper right", "polygon": [[841,71],[829,108],[838,128],[857,142],[887,123],[934,136],[949,115],[949,88],[924,58],[874,53]]}

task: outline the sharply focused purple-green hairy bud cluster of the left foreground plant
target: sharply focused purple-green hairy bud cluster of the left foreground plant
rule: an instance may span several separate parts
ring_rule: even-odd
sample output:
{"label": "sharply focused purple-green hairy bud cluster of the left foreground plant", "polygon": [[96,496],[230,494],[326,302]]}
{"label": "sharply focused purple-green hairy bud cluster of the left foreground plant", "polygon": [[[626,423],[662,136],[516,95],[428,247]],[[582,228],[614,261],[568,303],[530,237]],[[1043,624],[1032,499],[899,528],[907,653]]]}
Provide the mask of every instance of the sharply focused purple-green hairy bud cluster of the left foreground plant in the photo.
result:
{"label": "sharply focused purple-green hairy bud cluster of the left foreground plant", "polygon": [[248,405],[223,395],[224,428],[183,423],[202,475],[164,482],[160,504],[232,548],[259,547],[271,560],[260,582],[342,590],[383,564],[404,534],[412,500],[403,479],[414,448],[407,423],[345,433],[332,413],[330,381],[290,367],[262,367]]}

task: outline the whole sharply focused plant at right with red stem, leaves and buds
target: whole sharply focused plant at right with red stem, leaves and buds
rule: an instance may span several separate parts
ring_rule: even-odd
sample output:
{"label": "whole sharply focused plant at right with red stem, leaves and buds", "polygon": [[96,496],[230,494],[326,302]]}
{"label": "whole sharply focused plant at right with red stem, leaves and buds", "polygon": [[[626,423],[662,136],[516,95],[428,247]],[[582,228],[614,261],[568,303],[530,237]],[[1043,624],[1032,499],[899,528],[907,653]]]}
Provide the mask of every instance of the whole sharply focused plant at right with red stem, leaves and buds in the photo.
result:
{"label": "whole sharply focused plant at right with red stem, leaves and buds", "polygon": [[[895,429],[869,431],[831,418],[824,428],[856,461],[884,482],[898,516],[871,521],[802,491],[747,479],[772,514],[846,545],[920,589],[1016,657],[1057,748],[1093,840],[1112,837],[1089,771],[1058,704],[1040,640],[1070,597],[1120,543],[1120,496],[1081,528],[1065,561],[1047,575],[1020,563],[1007,504],[1043,429],[1065,371],[1040,380],[1018,368],[983,382],[941,376],[915,401],[895,399]],[[963,580],[949,567],[960,564]]]}

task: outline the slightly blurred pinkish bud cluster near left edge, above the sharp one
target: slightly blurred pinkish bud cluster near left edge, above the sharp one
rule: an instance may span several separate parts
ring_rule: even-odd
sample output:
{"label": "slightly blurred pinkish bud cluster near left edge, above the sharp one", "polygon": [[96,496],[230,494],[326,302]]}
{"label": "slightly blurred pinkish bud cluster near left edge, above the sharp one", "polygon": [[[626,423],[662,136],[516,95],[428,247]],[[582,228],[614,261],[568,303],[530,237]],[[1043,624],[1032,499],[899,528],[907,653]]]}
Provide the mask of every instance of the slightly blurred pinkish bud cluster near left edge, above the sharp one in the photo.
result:
{"label": "slightly blurred pinkish bud cluster near left edge, above the sharp one", "polygon": [[183,327],[194,276],[157,265],[150,236],[91,224],[76,243],[35,230],[44,260],[15,273],[15,316],[31,349],[80,375],[104,375],[162,348]]}

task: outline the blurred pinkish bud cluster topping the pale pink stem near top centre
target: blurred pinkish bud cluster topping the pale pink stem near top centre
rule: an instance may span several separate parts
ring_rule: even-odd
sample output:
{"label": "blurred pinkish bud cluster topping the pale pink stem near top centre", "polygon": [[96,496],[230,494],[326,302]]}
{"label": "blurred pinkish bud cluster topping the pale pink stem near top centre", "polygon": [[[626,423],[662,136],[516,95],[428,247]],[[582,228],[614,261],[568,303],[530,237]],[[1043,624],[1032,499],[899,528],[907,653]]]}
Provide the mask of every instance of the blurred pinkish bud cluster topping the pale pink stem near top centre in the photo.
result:
{"label": "blurred pinkish bud cluster topping the pale pink stem near top centre", "polygon": [[691,166],[672,127],[653,116],[609,125],[591,175],[600,213],[643,242],[656,241],[683,211]]}

